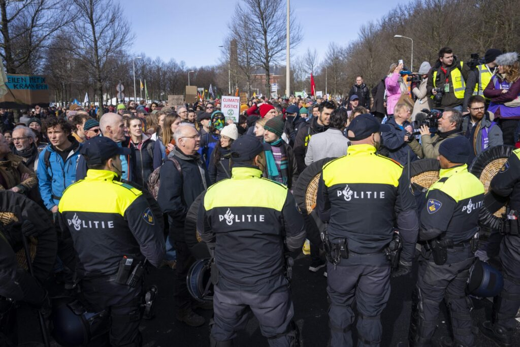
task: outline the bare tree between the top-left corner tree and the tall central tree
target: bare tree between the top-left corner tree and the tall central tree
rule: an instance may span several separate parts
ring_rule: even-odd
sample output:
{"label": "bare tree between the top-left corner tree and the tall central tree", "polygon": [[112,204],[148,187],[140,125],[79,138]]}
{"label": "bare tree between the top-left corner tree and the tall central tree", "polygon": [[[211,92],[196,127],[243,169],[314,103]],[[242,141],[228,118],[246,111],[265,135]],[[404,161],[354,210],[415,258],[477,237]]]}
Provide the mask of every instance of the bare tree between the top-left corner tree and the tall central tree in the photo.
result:
{"label": "bare tree between the top-left corner tree and the tall central tree", "polygon": [[[122,56],[132,41],[129,23],[122,17],[123,9],[112,0],[71,0],[79,14],[72,28],[79,44],[76,52],[86,61],[94,76],[97,99],[103,104],[103,85],[112,73],[107,62]],[[100,107],[102,110],[102,107]]]}

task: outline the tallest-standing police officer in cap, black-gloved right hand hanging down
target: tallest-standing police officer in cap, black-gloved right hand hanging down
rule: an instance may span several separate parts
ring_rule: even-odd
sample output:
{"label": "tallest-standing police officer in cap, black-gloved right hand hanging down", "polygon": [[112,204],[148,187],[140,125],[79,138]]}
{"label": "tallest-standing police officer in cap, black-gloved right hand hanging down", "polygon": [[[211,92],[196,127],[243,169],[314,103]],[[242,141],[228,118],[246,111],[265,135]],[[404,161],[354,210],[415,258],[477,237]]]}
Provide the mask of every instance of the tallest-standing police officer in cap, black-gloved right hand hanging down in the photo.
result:
{"label": "tallest-standing police officer in cap, black-gloved right hand hanging down", "polygon": [[380,315],[390,295],[390,262],[395,219],[403,247],[399,270],[411,271],[417,242],[415,200],[402,166],[376,155],[381,124],[361,114],[348,127],[347,155],[323,166],[317,212],[328,223],[326,250],[331,345],[352,346],[352,303],[357,302],[358,345],[381,344]]}

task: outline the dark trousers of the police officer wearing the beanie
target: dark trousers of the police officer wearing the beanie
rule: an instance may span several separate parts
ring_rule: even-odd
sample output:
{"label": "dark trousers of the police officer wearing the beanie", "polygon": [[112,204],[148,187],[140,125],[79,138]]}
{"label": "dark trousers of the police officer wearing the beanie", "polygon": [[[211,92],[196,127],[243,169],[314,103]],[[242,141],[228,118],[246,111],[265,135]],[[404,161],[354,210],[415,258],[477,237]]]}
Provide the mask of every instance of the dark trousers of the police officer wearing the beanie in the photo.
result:
{"label": "dark trousers of the police officer wearing the beanie", "polygon": [[431,345],[443,299],[449,307],[454,340],[464,346],[473,346],[471,300],[465,293],[474,261],[470,243],[448,249],[448,260],[444,265],[436,265],[429,253],[424,252],[425,256],[421,256],[419,261],[419,276],[412,300],[410,346]]}

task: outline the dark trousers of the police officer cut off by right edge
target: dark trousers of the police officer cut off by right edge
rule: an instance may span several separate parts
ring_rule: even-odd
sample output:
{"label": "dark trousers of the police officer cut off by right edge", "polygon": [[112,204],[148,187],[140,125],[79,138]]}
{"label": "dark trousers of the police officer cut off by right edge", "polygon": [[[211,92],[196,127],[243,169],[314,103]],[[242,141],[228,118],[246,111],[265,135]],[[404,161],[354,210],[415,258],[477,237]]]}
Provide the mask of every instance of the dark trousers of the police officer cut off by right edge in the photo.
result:
{"label": "dark trousers of the police officer cut off by right edge", "polygon": [[504,288],[493,300],[492,323],[513,333],[520,308],[520,236],[504,236],[500,247]]}

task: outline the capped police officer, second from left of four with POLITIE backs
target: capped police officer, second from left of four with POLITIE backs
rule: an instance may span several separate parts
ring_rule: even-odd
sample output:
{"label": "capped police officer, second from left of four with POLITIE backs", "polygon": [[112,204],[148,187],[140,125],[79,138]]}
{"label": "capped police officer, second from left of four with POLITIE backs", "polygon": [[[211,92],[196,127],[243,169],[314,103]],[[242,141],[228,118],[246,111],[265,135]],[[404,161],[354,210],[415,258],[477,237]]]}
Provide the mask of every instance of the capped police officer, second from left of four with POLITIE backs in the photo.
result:
{"label": "capped police officer, second from left of four with POLITIE backs", "polygon": [[231,346],[250,312],[270,346],[296,343],[284,253],[302,247],[304,221],[287,187],[261,178],[263,151],[252,135],[235,140],[232,177],[207,189],[200,204],[197,230],[215,257],[211,347]]}

